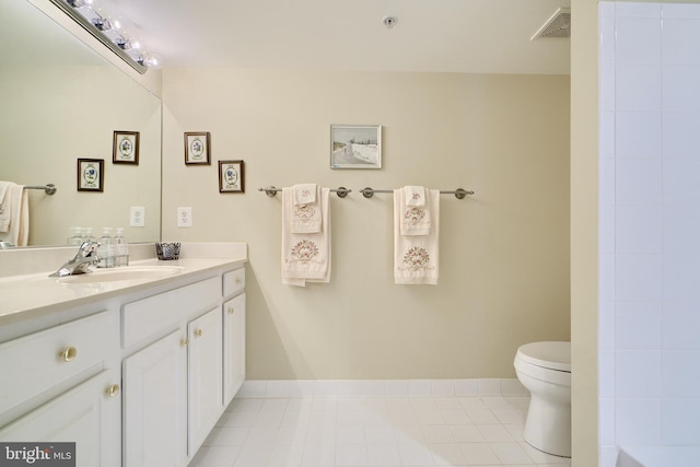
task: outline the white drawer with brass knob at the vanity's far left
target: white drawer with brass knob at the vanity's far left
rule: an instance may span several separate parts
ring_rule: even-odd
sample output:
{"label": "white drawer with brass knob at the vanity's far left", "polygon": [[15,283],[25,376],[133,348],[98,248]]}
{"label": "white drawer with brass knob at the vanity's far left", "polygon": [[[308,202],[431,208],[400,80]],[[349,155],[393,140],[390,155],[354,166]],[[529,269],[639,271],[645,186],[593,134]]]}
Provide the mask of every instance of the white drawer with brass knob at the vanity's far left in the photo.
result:
{"label": "white drawer with brass knob at the vanity's far left", "polygon": [[114,354],[118,319],[102,312],[0,345],[0,413]]}

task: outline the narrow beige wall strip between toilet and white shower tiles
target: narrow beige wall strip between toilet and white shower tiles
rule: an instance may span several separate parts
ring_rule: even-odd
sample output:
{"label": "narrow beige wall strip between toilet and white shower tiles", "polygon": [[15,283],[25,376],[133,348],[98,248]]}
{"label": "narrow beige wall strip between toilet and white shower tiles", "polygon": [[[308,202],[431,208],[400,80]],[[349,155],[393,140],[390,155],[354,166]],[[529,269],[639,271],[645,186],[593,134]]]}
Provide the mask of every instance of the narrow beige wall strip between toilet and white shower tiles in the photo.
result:
{"label": "narrow beige wall strip between toilet and white shower tiles", "polygon": [[598,10],[572,0],[571,358],[573,466],[598,465]]}

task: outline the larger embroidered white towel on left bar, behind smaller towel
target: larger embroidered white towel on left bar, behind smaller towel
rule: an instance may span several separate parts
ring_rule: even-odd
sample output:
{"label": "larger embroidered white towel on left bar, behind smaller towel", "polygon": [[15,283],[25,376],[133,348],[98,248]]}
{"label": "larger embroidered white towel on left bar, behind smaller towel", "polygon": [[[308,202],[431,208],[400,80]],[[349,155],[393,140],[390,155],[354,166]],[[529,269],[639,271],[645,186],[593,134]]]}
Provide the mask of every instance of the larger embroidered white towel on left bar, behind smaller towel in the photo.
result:
{"label": "larger embroidered white towel on left bar, behind smaller towel", "polygon": [[320,188],[322,227],[318,233],[292,233],[293,189],[282,189],[282,283],[330,282],[329,188]]}

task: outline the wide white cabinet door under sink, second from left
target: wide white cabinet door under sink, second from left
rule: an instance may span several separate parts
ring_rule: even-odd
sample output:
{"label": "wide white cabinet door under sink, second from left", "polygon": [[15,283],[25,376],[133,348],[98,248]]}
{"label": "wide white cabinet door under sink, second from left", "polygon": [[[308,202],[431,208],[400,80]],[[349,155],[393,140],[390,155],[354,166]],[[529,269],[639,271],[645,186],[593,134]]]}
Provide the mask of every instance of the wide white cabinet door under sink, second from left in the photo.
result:
{"label": "wide white cabinet door under sink, second from left", "polygon": [[184,466],[187,458],[187,340],[183,330],[122,363],[126,467]]}

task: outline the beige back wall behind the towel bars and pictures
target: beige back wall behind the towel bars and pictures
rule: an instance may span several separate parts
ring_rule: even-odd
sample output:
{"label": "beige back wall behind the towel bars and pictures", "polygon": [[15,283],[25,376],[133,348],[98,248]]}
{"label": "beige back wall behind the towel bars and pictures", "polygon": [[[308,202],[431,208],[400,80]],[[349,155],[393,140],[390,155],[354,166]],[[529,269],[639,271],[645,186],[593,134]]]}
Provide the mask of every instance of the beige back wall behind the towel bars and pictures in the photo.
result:
{"label": "beige back wall behind the towel bars and pictures", "polygon": [[[514,377],[517,346],[570,337],[569,78],[168,68],[163,73],[163,236],[249,246],[248,374],[258,378]],[[384,167],[331,171],[331,124],[384,126]],[[211,166],[185,166],[183,132],[211,131]],[[219,160],[246,194],[218,192]],[[280,279],[281,196],[332,197],[332,278]],[[392,198],[442,197],[441,279],[395,285]],[[176,226],[176,207],[194,226]]]}

